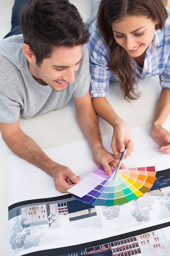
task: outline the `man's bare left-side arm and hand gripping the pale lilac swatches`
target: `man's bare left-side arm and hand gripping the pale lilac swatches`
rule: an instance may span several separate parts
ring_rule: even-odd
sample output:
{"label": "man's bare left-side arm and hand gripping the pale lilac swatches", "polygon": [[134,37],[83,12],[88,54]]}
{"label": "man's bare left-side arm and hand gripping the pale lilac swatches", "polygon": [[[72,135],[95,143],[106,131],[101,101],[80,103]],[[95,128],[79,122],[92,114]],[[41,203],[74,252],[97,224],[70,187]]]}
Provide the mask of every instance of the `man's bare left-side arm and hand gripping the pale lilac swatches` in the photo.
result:
{"label": "man's bare left-side arm and hand gripping the pale lilac swatches", "polygon": [[20,128],[19,119],[11,124],[0,122],[0,131],[2,139],[13,153],[41,168],[53,177],[55,189],[59,192],[67,193],[66,191],[73,186],[72,184],[68,184],[68,179],[73,184],[79,182],[79,177],[68,167],[51,160],[33,139],[24,134]]}

